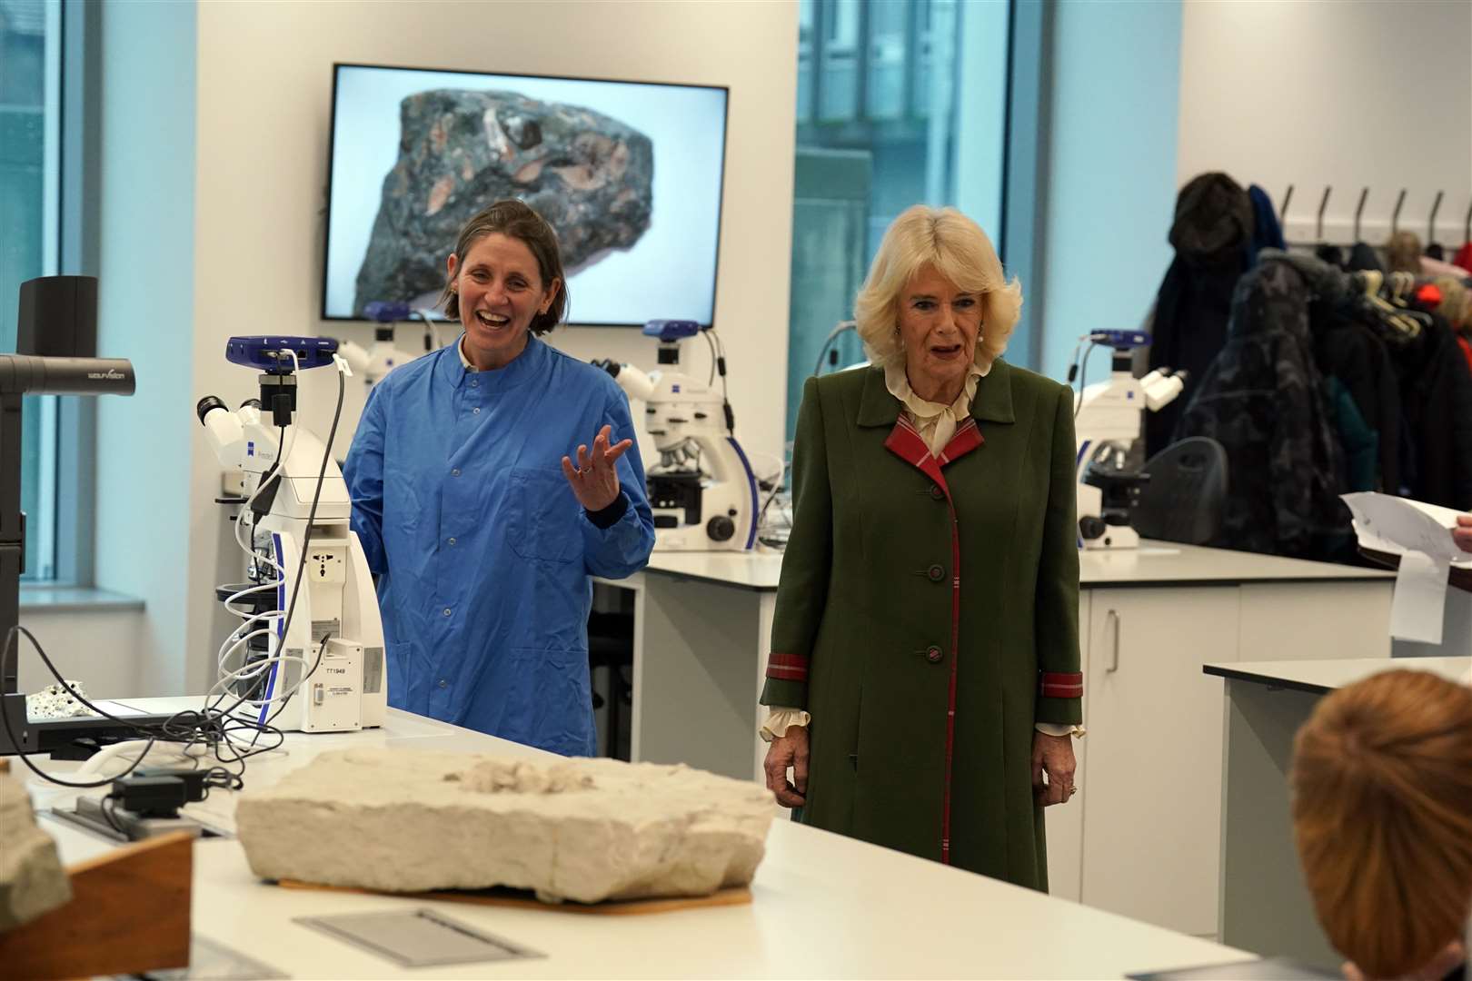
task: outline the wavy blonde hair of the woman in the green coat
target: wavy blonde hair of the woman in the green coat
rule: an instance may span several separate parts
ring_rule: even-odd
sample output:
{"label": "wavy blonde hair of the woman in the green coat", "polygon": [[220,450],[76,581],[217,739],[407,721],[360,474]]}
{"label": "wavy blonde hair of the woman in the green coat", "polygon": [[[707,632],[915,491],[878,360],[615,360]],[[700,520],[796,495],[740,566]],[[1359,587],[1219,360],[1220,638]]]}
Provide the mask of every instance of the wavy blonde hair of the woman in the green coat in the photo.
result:
{"label": "wavy blonde hair of the woman in the green coat", "polygon": [[854,321],[868,360],[886,366],[904,360],[899,343],[899,293],[932,266],[957,288],[982,296],[982,334],[976,363],[982,369],[1007,350],[1022,310],[1022,282],[1007,282],[997,250],[982,226],[954,207],[914,204],[889,225],[868,278],[854,300]]}

